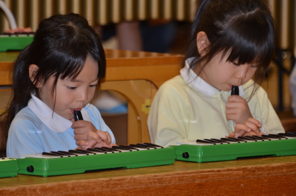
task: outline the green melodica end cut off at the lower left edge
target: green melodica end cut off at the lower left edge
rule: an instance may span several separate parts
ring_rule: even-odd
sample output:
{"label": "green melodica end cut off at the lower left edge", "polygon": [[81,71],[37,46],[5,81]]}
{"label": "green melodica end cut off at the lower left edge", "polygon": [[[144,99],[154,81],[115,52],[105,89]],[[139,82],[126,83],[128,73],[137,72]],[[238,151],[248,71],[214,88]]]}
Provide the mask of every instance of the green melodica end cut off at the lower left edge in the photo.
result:
{"label": "green melodica end cut off at the lower left edge", "polygon": [[16,176],[18,170],[17,159],[9,158],[0,160],[0,178]]}

